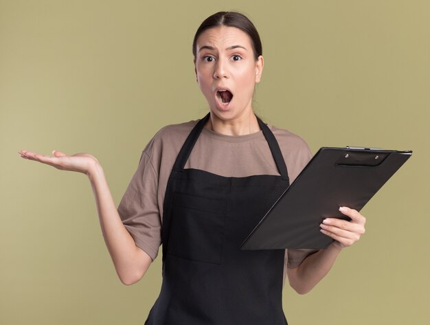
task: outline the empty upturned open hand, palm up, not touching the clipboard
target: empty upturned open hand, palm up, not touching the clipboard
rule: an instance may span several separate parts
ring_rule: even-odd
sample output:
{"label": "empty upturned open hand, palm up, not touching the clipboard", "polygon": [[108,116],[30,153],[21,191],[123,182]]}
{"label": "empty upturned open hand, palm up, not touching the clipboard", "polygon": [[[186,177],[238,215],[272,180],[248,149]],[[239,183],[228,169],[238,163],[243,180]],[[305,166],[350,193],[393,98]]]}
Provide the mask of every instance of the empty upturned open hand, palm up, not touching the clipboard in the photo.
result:
{"label": "empty upturned open hand, palm up, not touching the clipboard", "polygon": [[71,156],[67,156],[57,150],[52,150],[52,155],[54,156],[32,153],[28,150],[19,150],[18,153],[24,159],[39,161],[42,164],[51,165],[60,170],[82,172],[85,175],[89,175],[96,166],[100,166],[98,159],[89,153],[76,153]]}

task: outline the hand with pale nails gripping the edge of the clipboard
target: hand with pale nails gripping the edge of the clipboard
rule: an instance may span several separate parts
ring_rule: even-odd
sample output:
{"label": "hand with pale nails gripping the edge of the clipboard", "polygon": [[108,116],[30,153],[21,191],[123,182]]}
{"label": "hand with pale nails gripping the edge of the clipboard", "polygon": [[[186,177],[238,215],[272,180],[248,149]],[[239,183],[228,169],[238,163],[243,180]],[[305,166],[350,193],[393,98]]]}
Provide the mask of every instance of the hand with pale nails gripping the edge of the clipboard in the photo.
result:
{"label": "hand with pale nails gripping the edge of the clipboard", "polygon": [[366,218],[354,209],[341,207],[339,211],[349,216],[351,221],[338,218],[325,218],[320,227],[323,234],[335,240],[333,245],[342,249],[357,242],[361,235],[365,233],[364,225]]}

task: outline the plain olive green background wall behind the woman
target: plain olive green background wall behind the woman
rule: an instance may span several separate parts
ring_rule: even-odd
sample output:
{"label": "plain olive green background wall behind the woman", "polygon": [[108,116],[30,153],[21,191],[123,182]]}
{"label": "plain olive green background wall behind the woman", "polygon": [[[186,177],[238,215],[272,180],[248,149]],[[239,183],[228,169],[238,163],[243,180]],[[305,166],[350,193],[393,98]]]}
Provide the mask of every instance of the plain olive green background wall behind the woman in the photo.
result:
{"label": "plain olive green background wall behind the woman", "polygon": [[[254,108],[320,146],[412,149],[362,210],[367,233],[289,324],[428,324],[429,1],[0,1],[0,323],[143,324],[161,254],[118,280],[87,177],[20,149],[98,157],[118,204],[150,137],[207,112],[192,37],[218,10],[256,24]],[[351,184],[353,186],[354,184]]]}

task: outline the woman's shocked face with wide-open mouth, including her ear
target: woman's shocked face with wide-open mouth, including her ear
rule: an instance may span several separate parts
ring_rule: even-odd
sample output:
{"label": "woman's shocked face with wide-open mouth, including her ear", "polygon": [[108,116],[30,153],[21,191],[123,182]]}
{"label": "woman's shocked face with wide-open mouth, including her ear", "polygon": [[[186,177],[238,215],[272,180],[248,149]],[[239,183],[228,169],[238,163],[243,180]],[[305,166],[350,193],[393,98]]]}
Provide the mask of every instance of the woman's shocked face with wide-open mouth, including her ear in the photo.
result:
{"label": "woman's shocked face with wide-open mouth, including her ear", "polygon": [[205,30],[196,42],[197,82],[210,110],[220,120],[237,120],[252,112],[256,82],[263,58],[256,60],[251,38],[236,27]]}

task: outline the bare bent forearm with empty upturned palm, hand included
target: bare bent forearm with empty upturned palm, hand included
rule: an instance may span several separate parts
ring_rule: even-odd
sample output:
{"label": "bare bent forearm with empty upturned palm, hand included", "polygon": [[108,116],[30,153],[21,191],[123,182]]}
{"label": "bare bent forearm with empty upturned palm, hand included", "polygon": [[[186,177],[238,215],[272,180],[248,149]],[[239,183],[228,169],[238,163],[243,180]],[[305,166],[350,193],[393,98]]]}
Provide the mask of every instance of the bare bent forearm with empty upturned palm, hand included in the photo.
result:
{"label": "bare bent forearm with empty upturned palm, hand included", "polygon": [[21,150],[19,153],[25,159],[39,161],[60,170],[82,172],[89,177],[104,242],[111,254],[115,270],[124,284],[129,285],[139,281],[152,260],[145,251],[135,245],[133,237],[122,224],[98,160],[87,153],[67,156],[60,151],[53,151],[54,157],[38,155],[26,150]]}

